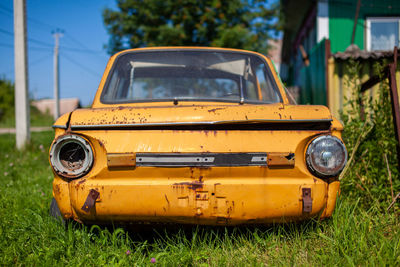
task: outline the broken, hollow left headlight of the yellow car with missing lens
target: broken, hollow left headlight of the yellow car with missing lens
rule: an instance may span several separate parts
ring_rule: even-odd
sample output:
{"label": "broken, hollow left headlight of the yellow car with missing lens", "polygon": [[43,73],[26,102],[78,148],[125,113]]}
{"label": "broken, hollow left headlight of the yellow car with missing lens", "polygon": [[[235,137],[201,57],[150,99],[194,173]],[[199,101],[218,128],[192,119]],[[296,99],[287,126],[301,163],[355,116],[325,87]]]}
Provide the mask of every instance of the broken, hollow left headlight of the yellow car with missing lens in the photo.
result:
{"label": "broken, hollow left headlight of the yellow car with missing lens", "polygon": [[54,171],[66,178],[78,178],[89,172],[93,165],[93,150],[89,141],[75,134],[56,139],[50,149],[50,162]]}

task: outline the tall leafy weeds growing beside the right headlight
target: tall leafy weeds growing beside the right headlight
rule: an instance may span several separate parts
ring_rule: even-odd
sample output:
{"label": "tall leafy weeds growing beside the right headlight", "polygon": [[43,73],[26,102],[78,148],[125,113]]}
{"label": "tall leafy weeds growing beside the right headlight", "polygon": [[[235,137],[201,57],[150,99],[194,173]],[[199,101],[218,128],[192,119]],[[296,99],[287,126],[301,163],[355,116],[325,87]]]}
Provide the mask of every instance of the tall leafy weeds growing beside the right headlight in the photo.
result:
{"label": "tall leafy weeds growing beside the right headlight", "polygon": [[[348,163],[341,188],[350,198],[360,198],[363,206],[381,203],[387,207],[392,201],[392,191],[400,190],[388,80],[379,84],[377,97],[372,98],[361,92],[358,62],[347,66],[349,75],[345,85],[352,88],[352,94],[346,99],[341,117],[345,125],[343,139],[349,155],[354,157]],[[376,63],[375,74],[382,75],[383,66],[384,63]]]}

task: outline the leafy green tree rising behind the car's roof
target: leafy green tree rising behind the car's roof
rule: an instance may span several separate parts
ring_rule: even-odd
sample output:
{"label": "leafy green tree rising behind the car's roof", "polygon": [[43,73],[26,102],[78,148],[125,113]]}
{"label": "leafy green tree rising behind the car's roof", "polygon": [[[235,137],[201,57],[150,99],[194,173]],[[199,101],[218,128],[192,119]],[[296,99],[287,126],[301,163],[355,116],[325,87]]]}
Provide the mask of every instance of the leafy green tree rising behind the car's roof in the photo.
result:
{"label": "leafy green tree rising behind the car's roof", "polygon": [[277,4],[261,0],[117,0],[105,9],[109,53],[145,46],[216,46],[266,53]]}

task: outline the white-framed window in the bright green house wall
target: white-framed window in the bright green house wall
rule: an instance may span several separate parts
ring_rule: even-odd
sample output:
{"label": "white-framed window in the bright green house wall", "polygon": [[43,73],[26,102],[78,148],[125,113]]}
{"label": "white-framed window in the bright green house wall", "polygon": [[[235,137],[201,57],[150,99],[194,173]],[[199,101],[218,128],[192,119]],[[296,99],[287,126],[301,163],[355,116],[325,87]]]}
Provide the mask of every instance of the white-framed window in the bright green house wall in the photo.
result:
{"label": "white-framed window in the bright green house wall", "polygon": [[394,46],[399,46],[399,31],[400,17],[367,18],[367,50],[393,50]]}

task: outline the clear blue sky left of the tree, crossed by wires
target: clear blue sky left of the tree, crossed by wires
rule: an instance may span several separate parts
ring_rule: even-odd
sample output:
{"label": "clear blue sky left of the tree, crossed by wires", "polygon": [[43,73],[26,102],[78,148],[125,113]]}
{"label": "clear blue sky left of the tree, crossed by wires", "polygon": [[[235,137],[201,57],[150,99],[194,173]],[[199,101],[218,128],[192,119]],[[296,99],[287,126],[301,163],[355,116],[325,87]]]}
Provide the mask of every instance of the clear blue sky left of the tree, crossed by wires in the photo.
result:
{"label": "clear blue sky left of the tree, crossed by wires", "polygon": [[[109,55],[102,20],[115,0],[26,0],[29,92],[35,99],[53,97],[52,31],[60,28],[60,96],[79,97],[90,105]],[[0,1],[0,77],[14,80],[13,1]]]}

